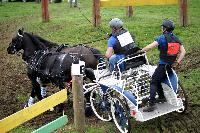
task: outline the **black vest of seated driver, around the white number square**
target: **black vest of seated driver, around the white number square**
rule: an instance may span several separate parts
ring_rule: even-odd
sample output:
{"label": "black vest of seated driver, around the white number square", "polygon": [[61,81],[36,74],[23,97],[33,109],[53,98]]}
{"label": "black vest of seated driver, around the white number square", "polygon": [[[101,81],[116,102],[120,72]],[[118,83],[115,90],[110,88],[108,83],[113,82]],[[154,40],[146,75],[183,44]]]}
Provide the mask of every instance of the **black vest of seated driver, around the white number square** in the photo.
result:
{"label": "black vest of seated driver, around the white number square", "polygon": [[121,34],[123,34],[123,33],[125,33],[125,32],[127,32],[127,30],[126,30],[126,29],[122,29],[121,32],[119,32],[119,33],[117,33],[117,34],[112,33],[112,36],[115,37],[115,38],[117,39],[117,44],[113,47],[114,54],[126,54],[126,52],[127,52],[128,50],[130,50],[130,49],[132,49],[132,48],[135,47],[134,38],[133,38],[133,41],[134,41],[133,43],[130,43],[130,44],[124,46],[124,47],[121,46],[121,44],[120,44],[120,42],[119,42],[117,36],[119,36],[119,35],[121,35]]}

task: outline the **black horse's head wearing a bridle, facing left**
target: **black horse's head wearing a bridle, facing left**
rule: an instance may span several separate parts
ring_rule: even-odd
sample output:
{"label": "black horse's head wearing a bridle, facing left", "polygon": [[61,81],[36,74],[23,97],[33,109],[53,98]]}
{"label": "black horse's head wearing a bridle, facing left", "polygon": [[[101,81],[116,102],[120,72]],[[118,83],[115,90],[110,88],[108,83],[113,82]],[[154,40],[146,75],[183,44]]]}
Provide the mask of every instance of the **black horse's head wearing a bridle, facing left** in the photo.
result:
{"label": "black horse's head wearing a bridle, facing left", "polygon": [[23,29],[19,29],[17,35],[12,38],[12,41],[7,48],[8,54],[15,54],[22,49],[23,35]]}

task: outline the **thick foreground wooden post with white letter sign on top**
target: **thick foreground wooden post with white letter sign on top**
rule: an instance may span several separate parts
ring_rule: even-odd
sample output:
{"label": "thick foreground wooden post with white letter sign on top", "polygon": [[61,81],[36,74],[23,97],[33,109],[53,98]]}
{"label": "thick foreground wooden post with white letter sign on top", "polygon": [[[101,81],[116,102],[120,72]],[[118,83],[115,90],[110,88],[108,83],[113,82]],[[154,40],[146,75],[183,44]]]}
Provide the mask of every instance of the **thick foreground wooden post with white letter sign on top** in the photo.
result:
{"label": "thick foreground wooden post with white letter sign on top", "polygon": [[[79,61],[80,62],[80,61]],[[72,64],[72,94],[75,128],[80,133],[85,133],[85,109],[83,94],[83,75],[80,64]]]}

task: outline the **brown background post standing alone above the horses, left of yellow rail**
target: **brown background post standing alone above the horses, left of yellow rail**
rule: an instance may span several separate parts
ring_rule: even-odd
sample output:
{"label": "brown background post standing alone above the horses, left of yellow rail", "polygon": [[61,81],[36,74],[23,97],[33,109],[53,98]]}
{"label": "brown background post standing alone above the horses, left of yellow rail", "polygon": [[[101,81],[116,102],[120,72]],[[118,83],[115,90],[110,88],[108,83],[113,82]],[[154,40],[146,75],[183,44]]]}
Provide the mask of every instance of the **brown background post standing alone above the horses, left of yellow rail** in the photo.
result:
{"label": "brown background post standing alone above the horses, left of yellow rail", "polygon": [[49,0],[42,0],[42,22],[49,22]]}

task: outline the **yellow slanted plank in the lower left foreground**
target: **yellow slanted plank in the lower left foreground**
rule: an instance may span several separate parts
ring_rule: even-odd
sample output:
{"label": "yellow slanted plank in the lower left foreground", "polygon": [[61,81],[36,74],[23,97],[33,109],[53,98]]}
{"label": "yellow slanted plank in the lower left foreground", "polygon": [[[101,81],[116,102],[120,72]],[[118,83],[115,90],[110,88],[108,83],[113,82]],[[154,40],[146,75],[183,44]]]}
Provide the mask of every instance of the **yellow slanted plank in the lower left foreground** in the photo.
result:
{"label": "yellow slanted plank in the lower left foreground", "polygon": [[[49,96],[30,107],[18,111],[2,120],[0,120],[0,132],[8,132],[20,124],[38,116],[39,114],[53,108],[67,99],[67,90],[61,90],[52,96]],[[64,118],[61,118],[63,120]],[[59,121],[59,120],[58,120]]]}

